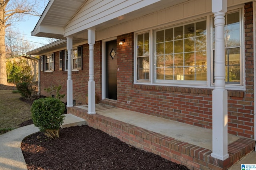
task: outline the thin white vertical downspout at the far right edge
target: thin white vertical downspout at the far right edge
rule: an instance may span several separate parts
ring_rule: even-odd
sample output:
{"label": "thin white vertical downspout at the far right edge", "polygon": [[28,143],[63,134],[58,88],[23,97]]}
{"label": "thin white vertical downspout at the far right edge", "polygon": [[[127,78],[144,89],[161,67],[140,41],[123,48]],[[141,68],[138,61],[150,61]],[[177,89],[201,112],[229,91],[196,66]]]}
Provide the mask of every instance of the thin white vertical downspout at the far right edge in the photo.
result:
{"label": "thin white vertical downspout at the far right edge", "polygon": [[[253,6],[253,61],[254,61],[254,64],[253,64],[253,81],[254,81],[254,90],[256,89],[256,62],[255,62],[255,1],[252,2],[252,6]],[[256,102],[255,102],[255,99],[256,99],[256,93],[254,91],[254,141],[256,141]],[[254,147],[254,150],[256,151],[256,147]]]}

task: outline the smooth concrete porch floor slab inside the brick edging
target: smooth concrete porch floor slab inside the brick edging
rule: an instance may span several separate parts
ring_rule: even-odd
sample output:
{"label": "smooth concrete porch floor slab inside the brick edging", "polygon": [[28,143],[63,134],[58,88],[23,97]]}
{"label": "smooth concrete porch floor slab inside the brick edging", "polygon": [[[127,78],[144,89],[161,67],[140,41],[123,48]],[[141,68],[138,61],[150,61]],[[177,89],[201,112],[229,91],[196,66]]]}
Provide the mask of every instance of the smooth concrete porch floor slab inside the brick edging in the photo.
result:
{"label": "smooth concrete porch floor slab inside the brick edging", "polygon": [[[88,111],[88,106],[76,106]],[[116,107],[96,105],[96,113],[212,150],[212,130]],[[228,144],[240,137],[228,135]]]}

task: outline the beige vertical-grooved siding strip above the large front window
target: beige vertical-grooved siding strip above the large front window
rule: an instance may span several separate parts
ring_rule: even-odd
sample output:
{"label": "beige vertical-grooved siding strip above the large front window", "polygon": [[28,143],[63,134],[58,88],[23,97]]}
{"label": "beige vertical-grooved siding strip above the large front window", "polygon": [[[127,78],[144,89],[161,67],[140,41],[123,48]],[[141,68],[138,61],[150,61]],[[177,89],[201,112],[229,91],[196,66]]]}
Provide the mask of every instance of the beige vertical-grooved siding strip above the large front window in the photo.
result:
{"label": "beige vertical-grooved siding strip above the large front window", "polygon": [[[228,7],[244,4],[248,0],[228,0]],[[101,31],[96,30],[97,40],[114,37],[138,30],[147,29],[165,23],[181,23],[183,19],[192,20],[197,19],[200,15],[209,14],[212,12],[212,3],[209,0],[191,0],[154,12],[152,14],[142,16],[135,20],[121,23],[114,27],[104,29]]]}

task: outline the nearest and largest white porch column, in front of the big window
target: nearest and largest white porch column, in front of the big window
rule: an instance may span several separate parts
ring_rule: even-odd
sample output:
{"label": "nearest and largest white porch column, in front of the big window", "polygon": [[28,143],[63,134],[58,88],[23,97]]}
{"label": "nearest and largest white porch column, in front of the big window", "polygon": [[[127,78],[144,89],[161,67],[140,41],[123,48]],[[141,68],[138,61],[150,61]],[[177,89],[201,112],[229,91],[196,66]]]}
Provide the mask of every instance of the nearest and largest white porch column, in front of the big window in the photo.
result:
{"label": "nearest and largest white porch column, in front of the big window", "polygon": [[227,0],[212,0],[215,25],[215,88],[212,92],[212,154],[214,158],[228,158],[228,92],[225,89],[224,24]]}

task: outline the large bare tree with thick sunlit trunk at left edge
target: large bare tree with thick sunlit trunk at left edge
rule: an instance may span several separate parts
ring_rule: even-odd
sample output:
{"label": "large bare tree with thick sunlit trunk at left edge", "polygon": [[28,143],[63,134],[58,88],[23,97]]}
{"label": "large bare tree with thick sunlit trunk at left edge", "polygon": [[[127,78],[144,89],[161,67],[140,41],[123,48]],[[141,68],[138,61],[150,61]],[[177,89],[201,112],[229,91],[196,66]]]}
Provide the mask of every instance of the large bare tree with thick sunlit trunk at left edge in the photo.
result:
{"label": "large bare tree with thick sunlit trunk at left edge", "polygon": [[24,21],[25,15],[40,16],[39,0],[0,0],[0,84],[7,84],[5,30]]}

